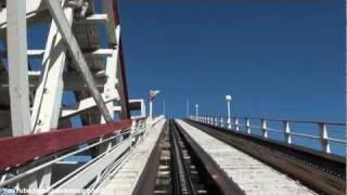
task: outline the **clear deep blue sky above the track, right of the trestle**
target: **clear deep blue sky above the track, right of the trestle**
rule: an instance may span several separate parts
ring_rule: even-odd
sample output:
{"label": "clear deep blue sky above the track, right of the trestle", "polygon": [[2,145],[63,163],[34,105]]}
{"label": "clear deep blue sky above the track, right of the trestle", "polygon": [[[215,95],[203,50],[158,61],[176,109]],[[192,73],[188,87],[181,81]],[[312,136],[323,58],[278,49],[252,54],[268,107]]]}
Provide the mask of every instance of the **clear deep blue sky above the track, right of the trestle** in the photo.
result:
{"label": "clear deep blue sky above the track, right of the trestle", "polygon": [[130,98],[159,89],[168,117],[344,121],[344,1],[120,0]]}

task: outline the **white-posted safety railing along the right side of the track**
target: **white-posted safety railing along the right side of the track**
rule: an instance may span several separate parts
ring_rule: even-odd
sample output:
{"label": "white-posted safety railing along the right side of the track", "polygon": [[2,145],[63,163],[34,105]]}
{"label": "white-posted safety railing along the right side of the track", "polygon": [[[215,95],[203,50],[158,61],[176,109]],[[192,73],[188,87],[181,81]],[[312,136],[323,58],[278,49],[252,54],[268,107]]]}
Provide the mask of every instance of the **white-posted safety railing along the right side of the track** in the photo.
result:
{"label": "white-posted safety railing along the right side of the track", "polygon": [[[242,132],[249,135],[260,135],[264,139],[270,139],[269,133],[277,133],[283,138],[283,142],[286,144],[293,143],[293,138],[304,138],[317,140],[320,143],[321,152],[325,154],[331,154],[331,143],[340,144],[346,147],[347,141],[345,136],[346,123],[343,122],[327,122],[327,121],[304,121],[304,120],[283,120],[283,119],[270,119],[270,118],[255,118],[255,117],[222,117],[222,116],[190,116],[191,120],[200,121],[206,125],[230,129],[235,132]],[[271,123],[272,126],[270,126]],[[311,126],[311,131],[299,132],[303,127],[297,128],[300,130],[294,130],[293,127],[296,126]],[[281,127],[282,126],[282,127]],[[312,127],[313,126],[313,127]],[[331,131],[329,128],[334,129],[334,131],[342,132],[338,138],[330,136]],[[255,131],[259,133],[256,134]],[[318,133],[314,133],[318,132]],[[272,139],[281,141],[281,139]]]}

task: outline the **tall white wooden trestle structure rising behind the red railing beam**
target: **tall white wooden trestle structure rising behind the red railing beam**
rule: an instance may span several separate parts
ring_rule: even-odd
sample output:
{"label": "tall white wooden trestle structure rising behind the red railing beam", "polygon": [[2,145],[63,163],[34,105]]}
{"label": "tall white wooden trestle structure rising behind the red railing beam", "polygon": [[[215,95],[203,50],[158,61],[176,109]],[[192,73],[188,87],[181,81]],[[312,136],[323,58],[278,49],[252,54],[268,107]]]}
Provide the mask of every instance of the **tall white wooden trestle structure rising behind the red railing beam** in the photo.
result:
{"label": "tall white wooden trestle structure rising behind the red railing beam", "polygon": [[[74,127],[75,116],[82,126],[130,118],[116,0],[98,1],[101,10],[94,0],[0,3],[0,138]],[[46,47],[29,48],[38,25]],[[48,166],[18,184],[49,188],[51,176]]]}

